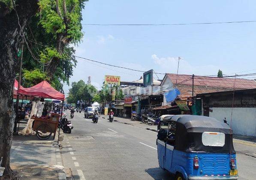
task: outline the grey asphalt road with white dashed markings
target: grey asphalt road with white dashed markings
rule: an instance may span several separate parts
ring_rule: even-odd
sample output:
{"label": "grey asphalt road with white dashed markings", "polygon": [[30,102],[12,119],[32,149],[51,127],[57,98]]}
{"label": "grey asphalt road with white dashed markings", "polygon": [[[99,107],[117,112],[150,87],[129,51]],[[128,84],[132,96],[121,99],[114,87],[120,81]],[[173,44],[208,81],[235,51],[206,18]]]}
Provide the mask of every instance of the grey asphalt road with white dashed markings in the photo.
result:
{"label": "grey asphalt road with white dashed markings", "polygon": [[[98,124],[92,123],[84,118],[83,112],[75,113],[71,121],[74,129],[71,134],[65,134],[61,153],[63,165],[71,168],[74,179],[172,179],[158,165],[157,132],[115,121],[110,123],[101,117]],[[244,144],[236,146],[247,148]],[[237,162],[240,180],[256,179],[256,158],[237,153]]]}

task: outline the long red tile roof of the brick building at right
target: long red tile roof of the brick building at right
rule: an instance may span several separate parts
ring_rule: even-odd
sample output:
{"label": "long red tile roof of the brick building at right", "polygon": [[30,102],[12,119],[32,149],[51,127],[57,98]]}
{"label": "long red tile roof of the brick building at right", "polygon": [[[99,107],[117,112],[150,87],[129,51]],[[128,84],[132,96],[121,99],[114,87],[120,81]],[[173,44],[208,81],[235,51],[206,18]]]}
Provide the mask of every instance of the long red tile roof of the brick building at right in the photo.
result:
{"label": "long red tile roof of the brick building at right", "polygon": [[[166,75],[171,79],[172,83],[187,84],[192,85],[192,75],[178,75],[169,74]],[[212,87],[222,87],[222,88],[243,88],[252,89],[256,88],[256,82],[254,80],[240,79],[240,78],[217,78],[209,76],[194,76],[194,85],[199,86],[212,86]]]}

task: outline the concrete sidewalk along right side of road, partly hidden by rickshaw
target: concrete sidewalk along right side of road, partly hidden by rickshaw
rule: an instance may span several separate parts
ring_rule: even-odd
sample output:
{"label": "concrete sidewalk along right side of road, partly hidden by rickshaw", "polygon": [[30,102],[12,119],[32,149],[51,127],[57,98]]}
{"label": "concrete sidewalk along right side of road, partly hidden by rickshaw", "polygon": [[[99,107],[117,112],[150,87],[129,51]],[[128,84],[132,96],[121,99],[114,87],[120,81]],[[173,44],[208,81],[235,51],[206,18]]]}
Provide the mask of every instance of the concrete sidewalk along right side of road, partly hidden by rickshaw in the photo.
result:
{"label": "concrete sidewalk along right side of road, partly hidden by rickshaw", "polygon": [[[105,119],[108,118],[107,115],[100,115],[100,116],[104,117]],[[121,118],[121,117],[114,117],[114,121],[157,132],[157,126],[141,123],[140,121],[132,121],[130,119]],[[256,137],[255,136],[234,135],[233,143],[237,153],[242,153],[247,156],[252,156],[256,158]]]}

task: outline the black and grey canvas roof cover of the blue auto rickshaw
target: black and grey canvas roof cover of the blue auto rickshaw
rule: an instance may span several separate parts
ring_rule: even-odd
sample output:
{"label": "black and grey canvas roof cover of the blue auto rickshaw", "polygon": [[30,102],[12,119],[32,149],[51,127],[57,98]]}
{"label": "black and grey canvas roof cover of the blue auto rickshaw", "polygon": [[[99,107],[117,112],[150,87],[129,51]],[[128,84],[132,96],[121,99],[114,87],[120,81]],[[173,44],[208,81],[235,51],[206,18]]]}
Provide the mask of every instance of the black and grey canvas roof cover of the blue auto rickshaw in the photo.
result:
{"label": "black and grey canvas roof cover of the blue auto rickshaw", "polygon": [[[177,150],[186,152],[235,153],[232,141],[232,129],[224,122],[212,117],[196,115],[175,115],[172,116],[170,121],[177,122],[175,130],[175,149]],[[203,132],[220,132],[225,134],[225,145],[223,147],[203,145]]]}

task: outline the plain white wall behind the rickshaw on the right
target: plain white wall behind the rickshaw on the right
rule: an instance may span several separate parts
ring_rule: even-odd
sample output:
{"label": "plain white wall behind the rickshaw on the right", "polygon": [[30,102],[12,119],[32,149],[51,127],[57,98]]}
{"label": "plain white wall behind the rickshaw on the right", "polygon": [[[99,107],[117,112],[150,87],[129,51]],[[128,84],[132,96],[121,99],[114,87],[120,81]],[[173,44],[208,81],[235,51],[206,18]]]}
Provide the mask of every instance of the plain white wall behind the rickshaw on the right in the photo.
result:
{"label": "plain white wall behind the rickshaw on the right", "polygon": [[226,117],[234,134],[256,136],[256,108],[233,108],[232,124],[231,111],[232,108],[212,108],[209,116],[222,122]]}

